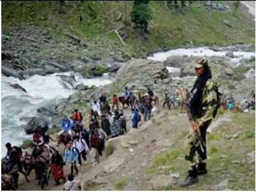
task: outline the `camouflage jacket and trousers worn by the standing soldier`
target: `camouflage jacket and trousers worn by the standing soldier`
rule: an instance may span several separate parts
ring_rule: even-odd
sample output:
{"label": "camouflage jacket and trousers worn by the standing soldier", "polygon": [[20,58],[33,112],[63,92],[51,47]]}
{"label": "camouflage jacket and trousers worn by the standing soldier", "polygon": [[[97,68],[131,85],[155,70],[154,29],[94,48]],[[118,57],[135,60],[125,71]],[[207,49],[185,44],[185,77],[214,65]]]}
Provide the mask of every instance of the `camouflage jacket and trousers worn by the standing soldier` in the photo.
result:
{"label": "camouflage jacket and trousers worn by the standing soldier", "polygon": [[[195,119],[195,122],[199,125],[200,136],[197,132],[190,132],[185,142],[185,159],[191,166],[196,164],[196,152],[198,154],[199,163],[206,163],[207,154],[205,136],[207,128],[211,124],[213,118],[212,114],[217,105],[216,83],[208,80],[202,94],[202,116]],[[204,152],[201,150],[199,141],[202,143]]]}

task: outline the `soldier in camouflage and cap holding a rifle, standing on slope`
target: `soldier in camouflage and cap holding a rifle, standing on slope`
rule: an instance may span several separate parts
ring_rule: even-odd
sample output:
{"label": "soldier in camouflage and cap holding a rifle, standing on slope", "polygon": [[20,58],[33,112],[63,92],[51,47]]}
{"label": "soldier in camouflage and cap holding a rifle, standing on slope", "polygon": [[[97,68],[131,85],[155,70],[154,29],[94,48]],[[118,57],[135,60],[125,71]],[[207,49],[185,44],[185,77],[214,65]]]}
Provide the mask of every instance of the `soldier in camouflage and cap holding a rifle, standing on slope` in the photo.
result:
{"label": "soldier in camouflage and cap holding a rifle, standing on slope", "polygon": [[[188,161],[191,169],[184,182],[180,182],[182,187],[198,182],[198,175],[207,173],[206,130],[219,108],[220,93],[216,84],[210,81],[212,76],[208,61],[204,58],[196,60],[195,73],[198,77],[191,93],[196,91],[187,106],[192,130],[185,142],[185,160]],[[196,153],[199,161],[197,164]]]}

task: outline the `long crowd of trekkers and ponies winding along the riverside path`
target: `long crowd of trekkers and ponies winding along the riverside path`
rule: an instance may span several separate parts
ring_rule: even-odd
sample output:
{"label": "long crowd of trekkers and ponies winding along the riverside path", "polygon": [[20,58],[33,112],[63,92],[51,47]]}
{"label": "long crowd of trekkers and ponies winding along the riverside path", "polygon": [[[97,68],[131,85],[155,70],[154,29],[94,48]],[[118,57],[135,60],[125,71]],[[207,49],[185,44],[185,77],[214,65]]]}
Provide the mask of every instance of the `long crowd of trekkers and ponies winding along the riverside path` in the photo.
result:
{"label": "long crowd of trekkers and ponies winding along the riverside path", "polygon": [[[68,181],[64,185],[64,189],[79,189],[79,182],[74,177],[74,175],[79,174],[79,166],[83,163],[88,164],[88,156],[92,160],[92,166],[96,166],[100,161],[100,156],[102,156],[106,140],[127,132],[127,117],[124,114],[124,109],[131,108],[132,128],[138,129],[141,116],[143,116],[144,121],[150,120],[152,109],[157,106],[156,98],[157,96],[150,88],[148,88],[145,95],[141,96],[139,93],[138,97],[136,97],[129,88],[125,87],[122,97],[118,97],[116,93],[113,94],[111,98],[112,106],[109,106],[109,99],[106,97],[106,93],[103,92],[99,100],[95,100],[92,104],[92,109],[88,116],[87,129],[84,127],[82,113],[75,109],[74,113],[72,113],[72,119],[64,116],[61,121],[61,131],[57,134],[57,140],[54,140],[49,134],[42,132],[40,127],[35,129],[31,146],[33,150],[30,156],[27,152],[22,153],[21,148],[12,147],[11,143],[6,143],[7,154],[4,158],[2,173],[13,175],[13,173],[18,171],[26,177],[31,172],[31,169],[35,168],[35,171],[36,169],[37,171],[39,170],[39,175],[36,173],[38,184],[42,184],[44,175],[48,173],[49,178],[52,172],[57,186],[60,184],[60,180],[63,180],[63,183],[66,182],[63,166],[69,162],[70,174],[67,177]],[[251,98],[250,103],[246,98],[242,99],[241,109],[244,112],[249,107],[253,108],[254,106],[255,108],[254,92],[251,93]],[[183,88],[175,90],[174,93],[165,93],[163,108],[168,106],[168,109],[172,109],[172,107],[173,109],[179,107],[180,109],[185,109],[189,99],[191,99],[191,93]],[[123,109],[120,109],[120,102]],[[227,109],[233,109],[236,106],[232,95],[227,99],[224,97],[223,102],[227,104]],[[52,146],[50,140],[58,144]],[[58,146],[61,143],[65,145],[63,156],[60,150],[58,150]],[[28,157],[30,160],[28,160]],[[30,166],[29,162],[31,163]],[[17,171],[15,172],[15,170]],[[50,170],[50,172],[47,170]],[[45,176],[45,178],[47,177]],[[17,184],[17,180],[15,180],[15,188],[18,187]],[[47,184],[47,179],[45,179],[45,184]]]}

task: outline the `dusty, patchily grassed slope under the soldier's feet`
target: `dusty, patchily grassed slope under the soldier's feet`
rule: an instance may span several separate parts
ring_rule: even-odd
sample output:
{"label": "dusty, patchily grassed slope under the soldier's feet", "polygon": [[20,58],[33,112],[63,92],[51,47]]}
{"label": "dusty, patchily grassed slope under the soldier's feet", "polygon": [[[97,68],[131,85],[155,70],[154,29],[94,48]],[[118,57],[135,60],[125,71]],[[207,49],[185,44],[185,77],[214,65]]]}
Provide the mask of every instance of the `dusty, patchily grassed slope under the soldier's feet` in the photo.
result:
{"label": "dusty, patchily grassed slope under the soldier's feet", "polygon": [[[179,188],[188,170],[184,140],[189,132],[186,113],[162,109],[152,120],[108,141],[114,152],[100,164],[81,166],[84,190],[254,190],[255,113],[221,113],[207,136],[208,170],[199,184]],[[65,166],[65,174],[70,172]],[[20,179],[20,190],[40,190],[36,180]],[[45,190],[61,190],[53,178]]]}

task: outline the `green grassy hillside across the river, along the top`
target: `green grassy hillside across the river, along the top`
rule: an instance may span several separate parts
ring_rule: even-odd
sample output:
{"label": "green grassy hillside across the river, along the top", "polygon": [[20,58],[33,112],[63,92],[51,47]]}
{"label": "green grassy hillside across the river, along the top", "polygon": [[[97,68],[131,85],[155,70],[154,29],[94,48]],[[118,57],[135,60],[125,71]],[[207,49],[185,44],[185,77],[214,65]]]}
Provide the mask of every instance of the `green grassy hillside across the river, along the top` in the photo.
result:
{"label": "green grassy hillside across the river, along the top", "polygon": [[[65,54],[65,59],[76,58],[81,54],[109,56],[116,52],[122,56],[142,56],[145,52],[156,49],[180,46],[199,45],[233,45],[254,44],[255,22],[243,10],[234,15],[234,5],[229,3],[230,10],[225,12],[213,10],[211,15],[205,6],[197,8],[196,4],[184,9],[184,14],[168,10],[163,1],[150,1],[153,19],[149,25],[149,33],[144,37],[132,29],[131,22],[125,22],[128,35],[127,46],[124,46],[115,34],[115,29],[124,26],[123,1],[66,1],[59,14],[59,1],[4,1],[2,9],[2,30],[6,35],[13,35],[14,26],[35,28],[45,31],[53,40],[65,42],[65,32],[76,35],[88,45],[87,49]],[[113,23],[111,19],[113,11]],[[127,3],[127,15],[132,10],[132,1]],[[79,16],[83,22],[79,21]],[[128,17],[128,20],[130,18]],[[223,20],[228,20],[228,27]],[[61,46],[61,45],[60,45]],[[45,47],[46,48],[46,47]],[[60,49],[65,47],[60,47]],[[63,54],[47,47],[45,56],[52,51],[56,55]]]}

